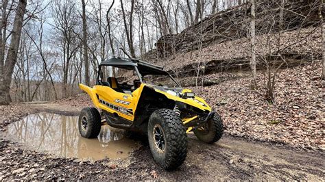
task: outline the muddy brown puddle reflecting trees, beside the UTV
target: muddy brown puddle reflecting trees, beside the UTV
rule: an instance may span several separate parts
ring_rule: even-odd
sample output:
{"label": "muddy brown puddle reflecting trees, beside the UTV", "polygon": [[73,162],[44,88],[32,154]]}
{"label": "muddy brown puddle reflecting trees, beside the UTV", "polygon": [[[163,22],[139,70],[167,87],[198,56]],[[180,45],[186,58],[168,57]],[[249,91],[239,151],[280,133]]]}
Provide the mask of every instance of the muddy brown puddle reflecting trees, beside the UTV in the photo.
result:
{"label": "muddy brown puddle reflecting trees, beside the UTV", "polygon": [[136,148],[133,140],[124,138],[120,130],[107,125],[101,127],[98,138],[83,138],[78,131],[77,120],[77,116],[30,114],[8,125],[6,135],[37,151],[80,159],[123,159]]}

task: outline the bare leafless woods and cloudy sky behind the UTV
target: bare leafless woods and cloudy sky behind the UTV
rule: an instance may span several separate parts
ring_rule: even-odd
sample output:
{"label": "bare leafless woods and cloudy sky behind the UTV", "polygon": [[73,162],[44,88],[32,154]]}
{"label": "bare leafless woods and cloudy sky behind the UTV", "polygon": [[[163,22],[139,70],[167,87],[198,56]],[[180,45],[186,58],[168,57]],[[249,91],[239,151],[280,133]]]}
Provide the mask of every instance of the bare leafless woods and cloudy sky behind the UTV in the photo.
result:
{"label": "bare leafless woods and cloudy sky behind the UTV", "polygon": [[[261,4],[261,1],[255,1]],[[272,14],[274,18],[279,19],[277,29],[286,29],[287,19],[284,18],[284,14],[287,8],[283,8],[286,1],[274,1],[276,6],[264,7],[265,10],[269,7],[279,9],[274,11],[276,14]],[[244,28],[242,25],[246,24],[238,21],[242,15],[236,14],[237,6],[242,5],[243,8],[250,10],[252,2],[252,0],[2,0],[0,104],[8,104],[10,101],[53,101],[78,94],[80,93],[78,83],[90,86],[95,83],[97,66],[101,61],[112,56],[124,57],[120,47],[128,51],[132,57],[147,58],[151,53],[154,60],[165,62],[176,57],[182,50],[199,50],[210,44],[209,40],[206,40],[206,35],[213,34],[215,38],[219,36],[228,40],[246,36],[254,38],[253,28],[256,26],[258,34],[261,27],[258,27],[260,22],[256,21],[255,25],[252,22],[253,12],[245,14],[251,17],[252,21],[245,22],[251,26]],[[265,11],[261,5],[255,7],[256,16]],[[240,33],[239,36],[231,37],[228,33],[232,34],[233,31],[226,30],[233,27],[215,24],[215,21],[210,24],[212,27],[204,27],[208,17],[228,8],[234,8],[233,14],[230,16],[227,14],[219,21],[230,21],[237,26],[236,32]],[[323,9],[320,8],[320,17],[322,12]],[[303,16],[305,15],[302,14],[301,17]],[[193,29],[183,31],[191,26]],[[193,40],[188,38],[189,34],[195,35],[192,36]],[[325,33],[323,37],[324,35]],[[186,37],[188,40],[182,40],[180,37]],[[190,44],[195,41],[198,43]],[[251,42],[252,57],[261,59],[257,52],[254,53],[256,40],[252,39]],[[252,69],[254,70],[254,59]],[[118,70],[108,69],[106,74],[112,75],[116,71]]]}

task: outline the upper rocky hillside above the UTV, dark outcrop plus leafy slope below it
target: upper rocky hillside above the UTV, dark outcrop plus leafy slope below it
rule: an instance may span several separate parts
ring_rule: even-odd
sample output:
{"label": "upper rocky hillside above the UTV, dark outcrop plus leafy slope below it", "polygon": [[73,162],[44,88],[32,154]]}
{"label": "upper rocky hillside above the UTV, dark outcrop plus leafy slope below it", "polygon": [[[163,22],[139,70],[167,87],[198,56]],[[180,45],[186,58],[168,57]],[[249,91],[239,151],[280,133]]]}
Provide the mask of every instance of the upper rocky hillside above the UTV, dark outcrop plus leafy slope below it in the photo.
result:
{"label": "upper rocky hillside above the UTV, dark outcrop plus leafy slope below it", "polygon": [[[287,1],[282,31],[278,28],[280,5],[271,1],[257,5],[258,68],[282,60],[285,66],[296,66],[320,57],[322,39],[317,5],[313,1]],[[251,55],[249,24],[250,4],[244,3],[205,18],[180,34],[160,38],[157,49],[143,58],[164,66],[176,77],[245,70]]]}

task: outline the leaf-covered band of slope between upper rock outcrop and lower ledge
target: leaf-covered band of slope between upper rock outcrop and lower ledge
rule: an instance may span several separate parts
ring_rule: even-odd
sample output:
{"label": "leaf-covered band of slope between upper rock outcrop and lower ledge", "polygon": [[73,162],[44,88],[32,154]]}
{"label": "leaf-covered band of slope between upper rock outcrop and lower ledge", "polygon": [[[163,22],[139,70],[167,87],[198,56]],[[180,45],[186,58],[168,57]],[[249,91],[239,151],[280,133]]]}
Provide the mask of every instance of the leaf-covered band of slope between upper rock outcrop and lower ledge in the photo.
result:
{"label": "leaf-covered band of slope between upper rock outcrop and lower ledge", "polygon": [[[280,41],[277,41],[279,36]],[[257,36],[256,39],[258,42],[256,44],[257,57],[260,60],[258,66],[260,67],[264,64],[261,57],[266,60],[276,60],[276,55],[282,55],[287,61],[285,66],[289,66],[315,60],[321,55],[322,38],[318,27],[285,31],[272,36],[264,34]],[[171,57],[170,60],[153,60],[152,62],[164,66],[174,75],[186,77],[196,75],[198,70],[201,72],[200,75],[230,69],[247,70],[250,55],[249,38],[240,38],[221,44],[212,44],[201,50],[180,53],[176,57]]]}

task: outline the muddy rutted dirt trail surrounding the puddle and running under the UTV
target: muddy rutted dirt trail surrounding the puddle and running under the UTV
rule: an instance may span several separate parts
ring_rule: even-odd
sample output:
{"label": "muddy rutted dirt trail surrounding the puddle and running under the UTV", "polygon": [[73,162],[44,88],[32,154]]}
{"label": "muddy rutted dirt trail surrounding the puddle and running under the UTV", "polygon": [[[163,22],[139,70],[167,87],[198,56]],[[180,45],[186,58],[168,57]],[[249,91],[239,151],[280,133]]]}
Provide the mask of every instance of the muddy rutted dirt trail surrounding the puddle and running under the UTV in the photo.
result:
{"label": "muddy rutted dirt trail surrounding the puddle and running under the UTV", "polygon": [[[20,105],[19,107],[23,107]],[[27,113],[54,112],[77,115],[79,107],[58,104],[27,104],[12,118],[1,112],[0,129]],[[12,108],[12,112],[15,109]],[[8,112],[8,111],[7,111]],[[0,180],[8,179],[291,179],[324,180],[324,151],[299,151],[289,146],[277,146],[224,135],[213,145],[203,144],[189,134],[189,152],[178,170],[167,172],[154,163],[145,138],[141,148],[127,159],[80,161],[27,149],[10,142],[1,132]]]}

